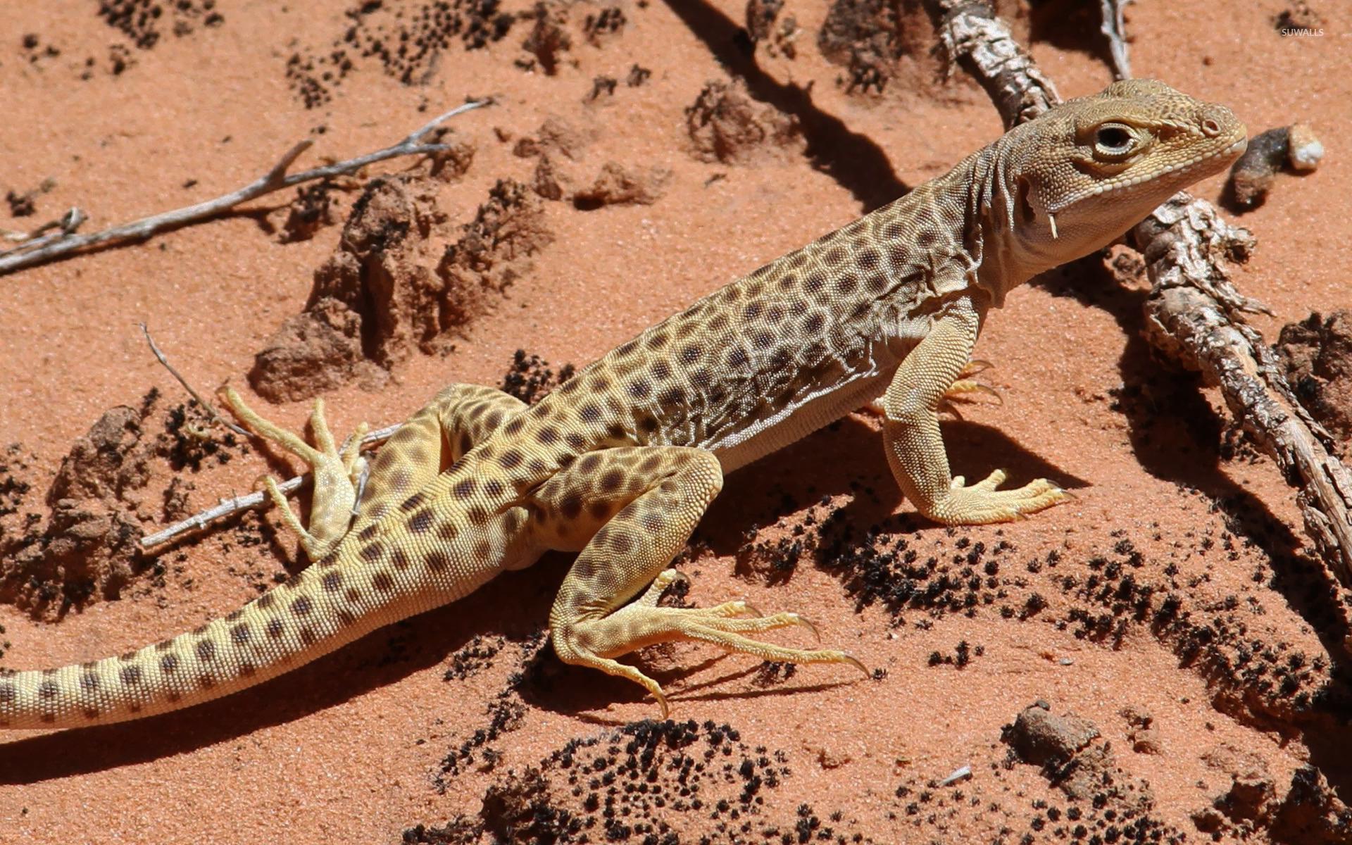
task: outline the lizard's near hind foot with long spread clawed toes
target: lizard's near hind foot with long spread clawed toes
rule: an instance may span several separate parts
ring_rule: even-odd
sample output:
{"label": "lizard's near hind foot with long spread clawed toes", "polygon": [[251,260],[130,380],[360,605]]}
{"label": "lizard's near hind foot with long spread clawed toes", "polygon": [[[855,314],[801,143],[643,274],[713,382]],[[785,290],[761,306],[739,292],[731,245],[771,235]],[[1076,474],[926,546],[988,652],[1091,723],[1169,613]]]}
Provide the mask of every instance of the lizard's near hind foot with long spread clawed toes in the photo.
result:
{"label": "lizard's near hind foot with long spread clawed toes", "polygon": [[815,637],[813,623],[795,612],[758,615],[746,602],[723,602],[714,607],[657,607],[662,589],[677,579],[684,576],[667,569],[631,604],[608,617],[577,621],[553,631],[554,649],[566,662],[592,667],[644,687],[657,699],[664,719],[671,707],[661,685],[614,657],[657,642],[694,641],[777,662],[844,662],[868,675],[864,664],[848,652],[791,649],[748,637],[780,627],[806,627]]}

